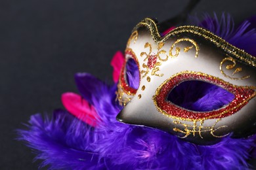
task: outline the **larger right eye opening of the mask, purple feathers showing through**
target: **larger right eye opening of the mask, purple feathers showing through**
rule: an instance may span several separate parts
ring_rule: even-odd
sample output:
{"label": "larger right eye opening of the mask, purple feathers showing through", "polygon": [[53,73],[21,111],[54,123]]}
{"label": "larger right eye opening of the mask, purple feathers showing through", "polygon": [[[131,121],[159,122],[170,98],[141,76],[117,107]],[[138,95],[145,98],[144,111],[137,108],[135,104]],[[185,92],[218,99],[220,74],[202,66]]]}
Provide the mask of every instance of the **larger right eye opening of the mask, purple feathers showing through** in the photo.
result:
{"label": "larger right eye opening of the mask, purple feathers showing through", "polygon": [[167,96],[167,101],[196,112],[221,109],[233,99],[233,93],[215,84],[200,80],[181,82]]}

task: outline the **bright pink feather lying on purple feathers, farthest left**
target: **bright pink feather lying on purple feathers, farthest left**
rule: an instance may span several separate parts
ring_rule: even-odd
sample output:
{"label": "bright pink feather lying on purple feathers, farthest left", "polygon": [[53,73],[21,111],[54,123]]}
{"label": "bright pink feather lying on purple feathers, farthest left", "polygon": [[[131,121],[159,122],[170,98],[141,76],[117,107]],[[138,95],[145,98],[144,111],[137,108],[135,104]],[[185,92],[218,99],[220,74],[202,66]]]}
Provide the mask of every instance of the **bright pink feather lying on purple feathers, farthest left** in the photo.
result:
{"label": "bright pink feather lying on purple feathers, farthest left", "polygon": [[90,126],[97,126],[99,116],[95,108],[92,105],[89,105],[89,103],[83,99],[81,95],[67,92],[62,94],[61,100],[66,110],[68,110],[68,112],[73,114],[79,120],[82,120]]}

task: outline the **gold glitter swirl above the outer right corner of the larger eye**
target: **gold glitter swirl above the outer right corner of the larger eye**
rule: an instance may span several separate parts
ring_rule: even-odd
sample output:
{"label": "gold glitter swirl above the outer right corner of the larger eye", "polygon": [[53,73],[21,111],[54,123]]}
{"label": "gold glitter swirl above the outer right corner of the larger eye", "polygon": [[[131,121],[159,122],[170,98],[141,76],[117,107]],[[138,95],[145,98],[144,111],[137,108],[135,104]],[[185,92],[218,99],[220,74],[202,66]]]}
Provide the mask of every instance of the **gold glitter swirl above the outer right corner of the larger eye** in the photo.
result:
{"label": "gold glitter swirl above the outer right corner of the larger eye", "polygon": [[[224,76],[226,76],[226,77],[228,77],[228,78],[230,78],[230,79],[232,79],[232,80],[244,80],[244,79],[250,77],[249,75],[247,75],[247,76],[242,76],[241,78],[234,78],[234,77],[231,77],[231,76],[226,75],[226,73],[224,73],[224,71],[223,71],[223,63],[224,63],[225,61],[230,61],[230,62],[233,63],[232,65],[226,65],[226,69],[230,70],[230,69],[234,69],[234,67],[236,67],[236,60],[235,60],[234,58],[231,58],[231,57],[224,58],[223,61],[221,61],[221,65],[219,66],[219,69],[221,70],[221,73],[222,73]],[[242,68],[241,68],[241,67],[238,67],[238,68],[232,73],[232,76],[234,76],[236,73],[240,73],[241,71],[242,71]]]}

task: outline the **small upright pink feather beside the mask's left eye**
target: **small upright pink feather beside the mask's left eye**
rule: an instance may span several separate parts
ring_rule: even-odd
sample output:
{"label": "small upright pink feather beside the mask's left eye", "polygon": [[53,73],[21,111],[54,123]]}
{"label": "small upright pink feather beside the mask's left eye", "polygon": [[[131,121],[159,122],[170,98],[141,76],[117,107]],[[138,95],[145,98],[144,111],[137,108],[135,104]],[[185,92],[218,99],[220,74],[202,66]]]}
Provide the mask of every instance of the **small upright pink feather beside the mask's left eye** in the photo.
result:
{"label": "small upright pink feather beside the mask's left eye", "polygon": [[123,56],[122,52],[117,51],[111,61],[111,65],[114,68],[114,71],[113,71],[114,82],[118,82],[119,75],[121,73],[121,69],[123,67],[124,62],[125,62],[125,57]]}

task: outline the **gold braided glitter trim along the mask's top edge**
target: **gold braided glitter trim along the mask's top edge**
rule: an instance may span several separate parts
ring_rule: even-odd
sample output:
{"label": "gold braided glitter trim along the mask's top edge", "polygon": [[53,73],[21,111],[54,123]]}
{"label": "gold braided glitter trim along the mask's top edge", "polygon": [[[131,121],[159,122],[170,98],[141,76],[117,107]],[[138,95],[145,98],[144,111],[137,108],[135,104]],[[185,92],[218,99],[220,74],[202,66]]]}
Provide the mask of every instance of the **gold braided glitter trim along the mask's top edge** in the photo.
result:
{"label": "gold braided glitter trim along the mask's top edge", "polygon": [[211,33],[211,31],[207,29],[203,29],[202,27],[196,27],[196,26],[177,27],[172,31],[170,31],[169,33],[167,33],[167,35],[165,35],[164,37],[161,37],[158,31],[158,25],[151,18],[145,18],[144,20],[139,22],[139,24],[137,24],[133,30],[137,31],[140,27],[146,27],[150,31],[154,41],[158,43],[166,41],[167,39],[169,39],[169,37],[179,36],[181,33],[188,33],[188,34],[192,34],[193,36],[197,35],[211,42],[218,48],[221,48],[222,50],[224,50],[224,52],[226,52],[232,58],[236,58],[239,61],[242,61],[244,63],[247,63],[248,65],[256,67],[255,56],[251,56],[244,50],[241,50],[240,48],[237,48],[236,46],[229,44],[228,42],[224,41],[224,39],[222,39],[221,37]]}

